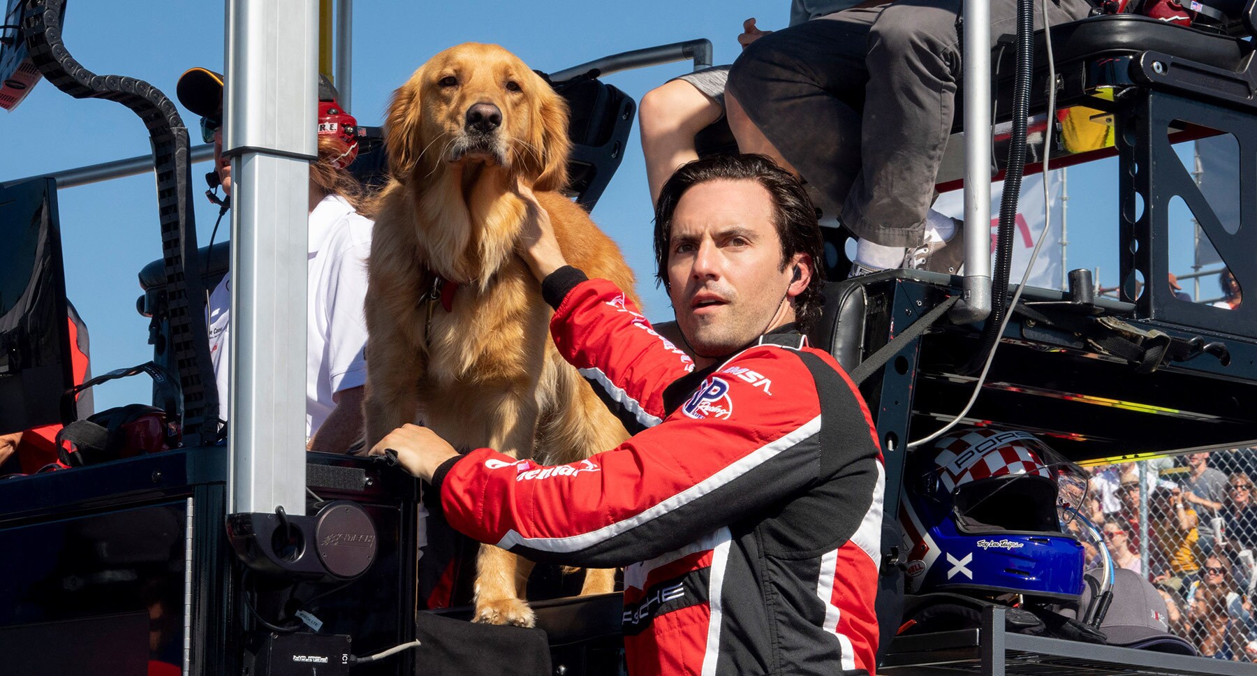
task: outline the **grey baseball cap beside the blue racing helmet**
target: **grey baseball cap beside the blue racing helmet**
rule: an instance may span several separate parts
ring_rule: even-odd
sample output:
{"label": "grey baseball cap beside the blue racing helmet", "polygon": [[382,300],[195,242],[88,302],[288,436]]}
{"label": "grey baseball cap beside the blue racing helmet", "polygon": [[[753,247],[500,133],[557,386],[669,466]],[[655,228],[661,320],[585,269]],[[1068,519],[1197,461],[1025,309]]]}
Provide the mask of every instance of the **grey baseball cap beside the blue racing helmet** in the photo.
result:
{"label": "grey baseball cap beside the blue racing helmet", "polygon": [[[1100,587],[1096,581],[1101,577],[1100,570],[1087,573],[1079,608],[1091,604],[1091,597]],[[1169,609],[1153,583],[1134,570],[1119,568],[1112,578],[1112,602],[1100,624],[1109,645],[1194,656],[1195,647],[1170,633],[1169,628]]]}

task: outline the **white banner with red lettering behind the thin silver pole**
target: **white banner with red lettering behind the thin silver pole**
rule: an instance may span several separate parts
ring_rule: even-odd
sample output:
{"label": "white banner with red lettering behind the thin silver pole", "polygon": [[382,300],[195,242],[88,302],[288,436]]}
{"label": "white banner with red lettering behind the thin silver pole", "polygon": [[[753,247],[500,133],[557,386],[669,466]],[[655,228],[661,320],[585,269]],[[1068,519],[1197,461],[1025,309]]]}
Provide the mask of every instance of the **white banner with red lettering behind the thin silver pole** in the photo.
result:
{"label": "white banner with red lettering behind the thin silver pole", "polygon": [[[1061,173],[1051,172],[1050,197],[1052,204],[1052,230],[1047,241],[1040,248],[1029,275],[1029,285],[1045,289],[1061,288]],[[991,183],[991,250],[996,250],[996,229],[999,225],[999,201],[1003,197],[1004,182]],[[1017,201],[1017,219],[1013,227],[1013,265],[1011,283],[1021,281],[1026,273],[1029,254],[1035,243],[1043,234],[1043,175],[1036,173],[1022,178],[1021,199]],[[934,210],[953,219],[964,219],[964,191],[953,190],[939,195]],[[994,263],[992,260],[992,263]]]}

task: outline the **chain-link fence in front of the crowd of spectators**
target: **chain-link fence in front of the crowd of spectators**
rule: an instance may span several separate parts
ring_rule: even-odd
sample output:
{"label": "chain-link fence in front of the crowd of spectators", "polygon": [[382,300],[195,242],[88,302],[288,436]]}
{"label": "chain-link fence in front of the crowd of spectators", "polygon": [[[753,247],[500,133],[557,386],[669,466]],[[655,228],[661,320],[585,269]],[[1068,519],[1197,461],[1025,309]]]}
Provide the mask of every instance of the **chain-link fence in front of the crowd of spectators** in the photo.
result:
{"label": "chain-link fence in front of the crowd of spectators", "polygon": [[[1089,470],[1104,545],[1156,586],[1172,631],[1203,656],[1257,661],[1257,447]],[[1077,535],[1100,565],[1095,538]]]}

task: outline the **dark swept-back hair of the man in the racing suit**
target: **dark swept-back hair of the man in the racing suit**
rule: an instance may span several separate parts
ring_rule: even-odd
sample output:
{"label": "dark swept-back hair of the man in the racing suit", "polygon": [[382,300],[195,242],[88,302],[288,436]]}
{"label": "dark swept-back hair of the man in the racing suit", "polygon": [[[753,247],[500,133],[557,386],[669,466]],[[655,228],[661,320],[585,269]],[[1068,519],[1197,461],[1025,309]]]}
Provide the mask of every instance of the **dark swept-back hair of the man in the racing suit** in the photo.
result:
{"label": "dark swept-back hair of the man in the racing suit", "polygon": [[672,236],[672,214],[685,191],[708,181],[754,181],[773,201],[773,225],[782,241],[784,270],[794,254],[812,256],[812,281],[794,298],[794,323],[806,333],[821,314],[821,285],[825,284],[825,243],[816,222],[816,207],[798,178],[763,155],[713,155],[689,162],[664,183],[655,202],[655,276],[667,288],[667,253]]}

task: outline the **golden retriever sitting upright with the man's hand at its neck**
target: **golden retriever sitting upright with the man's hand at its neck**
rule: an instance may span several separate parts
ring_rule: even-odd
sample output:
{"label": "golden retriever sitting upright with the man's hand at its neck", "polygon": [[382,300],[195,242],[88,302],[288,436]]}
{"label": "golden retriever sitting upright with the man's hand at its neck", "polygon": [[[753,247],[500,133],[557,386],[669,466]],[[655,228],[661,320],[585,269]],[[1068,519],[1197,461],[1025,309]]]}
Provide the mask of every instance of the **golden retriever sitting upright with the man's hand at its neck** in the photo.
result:
{"label": "golden retriever sitting upright with the man's hand at its neck", "polygon": [[[552,310],[515,253],[523,183],[567,260],[632,294],[620,249],[557,192],[567,181],[567,119],[563,98],[498,45],[446,49],[393,94],[392,178],[376,205],[368,264],[367,447],[416,420],[456,449],[542,464],[574,462],[627,437],[558,354]],[[483,545],[476,568],[475,619],[532,626],[523,601],[532,564]],[[582,593],[610,592],[612,581],[611,570],[590,570]]]}

